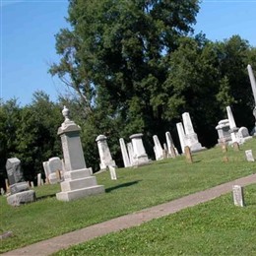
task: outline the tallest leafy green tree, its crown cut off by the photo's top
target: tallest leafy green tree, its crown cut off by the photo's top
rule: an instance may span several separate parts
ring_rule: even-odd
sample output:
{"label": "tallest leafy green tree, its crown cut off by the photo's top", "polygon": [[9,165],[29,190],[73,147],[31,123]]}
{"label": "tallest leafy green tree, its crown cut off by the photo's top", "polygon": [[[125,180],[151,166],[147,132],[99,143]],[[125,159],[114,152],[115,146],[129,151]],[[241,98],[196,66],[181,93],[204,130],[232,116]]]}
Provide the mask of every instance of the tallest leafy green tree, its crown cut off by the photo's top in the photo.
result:
{"label": "tallest leafy green tree, its crown cut off by the photo's top", "polygon": [[198,10],[197,0],[72,0],[71,29],[56,35],[61,60],[50,73],[76,90],[101,133],[110,132],[111,120],[123,137],[152,136],[168,125],[167,56],[192,32]]}

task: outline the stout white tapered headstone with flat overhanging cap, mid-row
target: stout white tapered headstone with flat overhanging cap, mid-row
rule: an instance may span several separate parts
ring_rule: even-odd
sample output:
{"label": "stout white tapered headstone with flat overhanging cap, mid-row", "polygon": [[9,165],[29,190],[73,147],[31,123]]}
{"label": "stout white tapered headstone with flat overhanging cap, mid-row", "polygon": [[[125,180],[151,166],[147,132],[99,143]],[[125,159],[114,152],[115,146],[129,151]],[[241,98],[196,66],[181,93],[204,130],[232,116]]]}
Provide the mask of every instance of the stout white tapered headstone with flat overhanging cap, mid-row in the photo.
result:
{"label": "stout white tapered headstone with flat overhanging cap, mid-row", "polygon": [[130,136],[134,152],[133,166],[144,165],[150,162],[143,145],[142,136],[142,133],[133,134]]}

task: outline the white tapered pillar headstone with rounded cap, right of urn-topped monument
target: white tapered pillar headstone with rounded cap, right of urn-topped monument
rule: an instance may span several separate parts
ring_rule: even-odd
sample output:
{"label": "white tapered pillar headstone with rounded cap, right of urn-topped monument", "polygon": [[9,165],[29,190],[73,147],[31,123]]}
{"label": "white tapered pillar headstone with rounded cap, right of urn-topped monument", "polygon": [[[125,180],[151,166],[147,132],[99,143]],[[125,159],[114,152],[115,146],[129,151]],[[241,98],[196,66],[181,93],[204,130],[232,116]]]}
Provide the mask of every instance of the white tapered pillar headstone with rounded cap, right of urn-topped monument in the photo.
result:
{"label": "white tapered pillar headstone with rounded cap, right of urn-topped monument", "polygon": [[104,135],[98,135],[96,137],[96,144],[100,158],[100,169],[106,169],[108,165],[116,166],[115,161],[112,160],[112,156],[106,142],[106,137]]}

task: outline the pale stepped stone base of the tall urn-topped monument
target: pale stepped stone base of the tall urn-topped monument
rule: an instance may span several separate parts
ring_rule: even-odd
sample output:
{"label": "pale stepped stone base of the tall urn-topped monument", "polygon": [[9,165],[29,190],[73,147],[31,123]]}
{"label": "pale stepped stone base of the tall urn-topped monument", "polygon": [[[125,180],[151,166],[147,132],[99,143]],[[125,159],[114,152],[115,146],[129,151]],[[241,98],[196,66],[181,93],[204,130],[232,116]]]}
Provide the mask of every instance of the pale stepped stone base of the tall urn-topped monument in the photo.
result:
{"label": "pale stepped stone base of the tall urn-topped monument", "polygon": [[104,186],[96,184],[96,177],[91,176],[90,168],[66,171],[64,179],[60,183],[61,192],[56,194],[60,201],[72,201],[104,193]]}

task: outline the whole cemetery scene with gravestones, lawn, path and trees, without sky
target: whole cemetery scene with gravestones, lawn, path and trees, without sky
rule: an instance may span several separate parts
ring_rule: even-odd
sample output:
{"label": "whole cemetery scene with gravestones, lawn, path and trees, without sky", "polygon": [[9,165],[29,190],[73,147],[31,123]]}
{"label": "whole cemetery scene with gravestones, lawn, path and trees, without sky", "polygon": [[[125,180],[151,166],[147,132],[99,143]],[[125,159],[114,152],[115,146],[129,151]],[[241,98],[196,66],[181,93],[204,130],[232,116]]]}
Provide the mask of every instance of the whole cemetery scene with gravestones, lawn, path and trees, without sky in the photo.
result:
{"label": "whole cemetery scene with gravestones, lawn, path and trees, without sky", "polygon": [[0,98],[0,254],[256,255],[255,48],[128,2],[70,1],[72,93]]}

